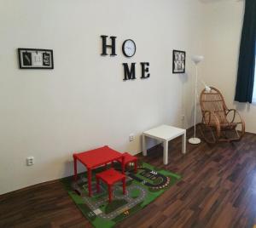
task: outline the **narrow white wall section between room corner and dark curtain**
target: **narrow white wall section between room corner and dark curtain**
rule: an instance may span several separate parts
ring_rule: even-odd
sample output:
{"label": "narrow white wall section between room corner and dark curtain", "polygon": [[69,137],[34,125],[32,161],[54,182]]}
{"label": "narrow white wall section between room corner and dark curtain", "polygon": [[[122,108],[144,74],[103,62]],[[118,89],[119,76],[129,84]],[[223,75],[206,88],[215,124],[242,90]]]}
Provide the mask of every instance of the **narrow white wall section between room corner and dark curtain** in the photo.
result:
{"label": "narrow white wall section between room corner and dark curtain", "polygon": [[227,105],[240,111],[246,131],[256,133],[256,105],[234,102],[244,3],[225,0],[204,4],[206,59],[202,69],[206,83],[219,88]]}

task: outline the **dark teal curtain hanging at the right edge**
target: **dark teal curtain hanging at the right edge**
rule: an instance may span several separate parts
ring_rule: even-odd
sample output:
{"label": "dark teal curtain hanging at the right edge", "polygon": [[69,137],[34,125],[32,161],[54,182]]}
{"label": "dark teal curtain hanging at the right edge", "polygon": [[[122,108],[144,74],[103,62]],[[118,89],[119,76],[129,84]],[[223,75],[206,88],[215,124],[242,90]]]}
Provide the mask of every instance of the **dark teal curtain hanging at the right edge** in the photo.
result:
{"label": "dark teal curtain hanging at the right edge", "polygon": [[245,1],[235,100],[252,103],[256,54],[256,0]]}

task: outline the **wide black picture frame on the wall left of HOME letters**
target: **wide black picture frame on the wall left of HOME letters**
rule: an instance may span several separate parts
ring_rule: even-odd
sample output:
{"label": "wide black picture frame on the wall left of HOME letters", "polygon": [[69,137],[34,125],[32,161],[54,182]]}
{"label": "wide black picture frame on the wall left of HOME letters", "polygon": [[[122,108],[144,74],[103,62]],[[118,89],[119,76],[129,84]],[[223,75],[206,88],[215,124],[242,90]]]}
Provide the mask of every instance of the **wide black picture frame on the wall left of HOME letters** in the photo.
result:
{"label": "wide black picture frame on the wall left of HOME letters", "polygon": [[53,50],[18,48],[20,69],[54,69]]}

